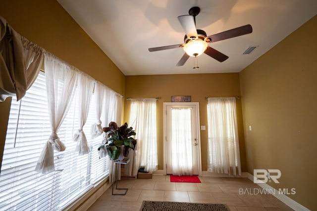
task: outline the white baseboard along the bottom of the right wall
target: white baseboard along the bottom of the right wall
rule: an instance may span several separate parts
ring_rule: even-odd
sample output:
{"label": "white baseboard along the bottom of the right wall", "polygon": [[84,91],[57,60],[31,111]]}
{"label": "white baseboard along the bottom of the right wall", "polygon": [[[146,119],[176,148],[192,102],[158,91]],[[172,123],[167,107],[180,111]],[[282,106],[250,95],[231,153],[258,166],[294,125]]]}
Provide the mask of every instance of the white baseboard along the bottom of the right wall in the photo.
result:
{"label": "white baseboard along the bottom of the right wall", "polygon": [[[251,173],[246,172],[247,177],[251,180],[254,181],[254,177]],[[276,190],[275,188],[269,186],[266,183],[258,183],[257,185],[259,185],[260,187],[262,187],[265,190],[271,190],[269,193],[271,193],[271,195],[273,195],[274,197],[276,197],[278,200],[280,200],[281,202],[283,202],[284,204],[286,204],[288,207],[292,208],[295,211],[310,211],[309,209],[305,208],[303,205],[299,204],[298,202],[294,201],[293,199],[289,198],[288,196],[284,195],[284,194],[280,194],[278,192],[278,190]]]}

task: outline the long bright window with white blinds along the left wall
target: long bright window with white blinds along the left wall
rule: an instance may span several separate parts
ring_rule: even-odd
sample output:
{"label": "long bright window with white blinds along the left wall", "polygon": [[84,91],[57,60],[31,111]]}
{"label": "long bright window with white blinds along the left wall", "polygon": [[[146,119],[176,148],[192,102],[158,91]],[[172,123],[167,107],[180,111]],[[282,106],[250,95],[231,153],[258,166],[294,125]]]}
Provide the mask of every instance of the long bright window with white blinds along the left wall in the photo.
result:
{"label": "long bright window with white blinds along the left wall", "polygon": [[58,131],[66,150],[54,152],[55,171],[34,171],[51,134],[46,95],[45,76],[39,74],[25,97],[18,102],[12,98],[0,175],[0,210],[62,209],[109,173],[109,159],[98,156],[102,136],[91,139],[90,135],[96,121],[94,97],[83,128],[91,152],[82,156],[75,152],[73,132],[79,127],[76,94]]}

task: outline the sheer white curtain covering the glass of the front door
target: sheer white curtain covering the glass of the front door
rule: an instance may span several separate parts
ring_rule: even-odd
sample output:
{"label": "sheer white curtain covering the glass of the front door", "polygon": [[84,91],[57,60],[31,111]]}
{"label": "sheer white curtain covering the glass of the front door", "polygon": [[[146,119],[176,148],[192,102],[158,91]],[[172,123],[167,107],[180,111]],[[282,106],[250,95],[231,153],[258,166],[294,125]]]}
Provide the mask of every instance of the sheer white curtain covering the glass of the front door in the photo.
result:
{"label": "sheer white curtain covering the glass of the front door", "polygon": [[172,108],[171,126],[173,175],[193,175],[191,109]]}

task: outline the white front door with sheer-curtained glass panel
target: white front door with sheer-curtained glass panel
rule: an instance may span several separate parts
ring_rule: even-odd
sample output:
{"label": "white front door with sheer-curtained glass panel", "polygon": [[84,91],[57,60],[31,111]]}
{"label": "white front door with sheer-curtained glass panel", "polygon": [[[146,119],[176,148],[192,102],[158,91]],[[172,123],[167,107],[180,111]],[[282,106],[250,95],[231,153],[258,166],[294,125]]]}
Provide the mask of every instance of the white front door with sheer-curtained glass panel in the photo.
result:
{"label": "white front door with sheer-curtained glass panel", "polygon": [[199,104],[164,104],[166,118],[166,173],[199,175]]}

